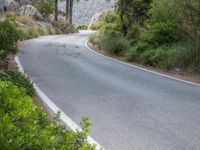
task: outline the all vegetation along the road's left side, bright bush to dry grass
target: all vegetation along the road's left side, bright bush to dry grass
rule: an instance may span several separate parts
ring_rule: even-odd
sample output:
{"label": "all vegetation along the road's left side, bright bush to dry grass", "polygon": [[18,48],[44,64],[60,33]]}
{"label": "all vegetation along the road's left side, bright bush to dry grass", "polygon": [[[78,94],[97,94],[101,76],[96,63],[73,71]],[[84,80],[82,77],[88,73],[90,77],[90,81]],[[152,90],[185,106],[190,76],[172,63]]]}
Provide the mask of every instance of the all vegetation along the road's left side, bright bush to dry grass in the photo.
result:
{"label": "all vegetation along the road's left side, bright bush to dry grass", "polygon": [[[37,3],[37,1],[36,1]],[[41,1],[38,1],[38,4]],[[41,6],[41,5],[36,5]],[[39,7],[43,17],[52,11]],[[46,18],[44,18],[45,20]],[[68,130],[59,119],[59,112],[51,119],[41,107],[31,80],[17,71],[13,62],[19,41],[40,35],[76,32],[65,21],[44,22],[34,17],[18,15],[14,11],[0,16],[0,148],[3,150],[65,149],[93,150],[87,137],[91,122],[87,116],[80,122],[82,130]]]}

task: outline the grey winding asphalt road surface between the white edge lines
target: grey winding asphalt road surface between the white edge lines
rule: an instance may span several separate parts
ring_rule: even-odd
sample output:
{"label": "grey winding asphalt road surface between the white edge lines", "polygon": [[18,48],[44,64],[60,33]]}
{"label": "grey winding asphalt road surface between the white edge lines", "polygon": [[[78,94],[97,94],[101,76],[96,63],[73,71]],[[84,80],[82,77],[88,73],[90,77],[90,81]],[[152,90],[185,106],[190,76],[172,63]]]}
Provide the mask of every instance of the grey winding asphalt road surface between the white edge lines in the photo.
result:
{"label": "grey winding asphalt road surface between the white edge lines", "polygon": [[26,41],[25,72],[109,150],[200,150],[200,87],[89,51],[88,32]]}

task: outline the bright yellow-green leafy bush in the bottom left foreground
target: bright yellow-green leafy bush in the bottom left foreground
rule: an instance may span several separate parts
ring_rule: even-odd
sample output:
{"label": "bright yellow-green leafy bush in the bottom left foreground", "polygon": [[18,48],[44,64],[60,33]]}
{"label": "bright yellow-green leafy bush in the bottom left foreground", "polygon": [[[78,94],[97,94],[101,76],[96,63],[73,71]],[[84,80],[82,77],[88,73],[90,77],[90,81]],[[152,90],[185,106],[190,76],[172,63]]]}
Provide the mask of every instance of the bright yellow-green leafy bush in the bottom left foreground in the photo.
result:
{"label": "bright yellow-green leafy bush in the bottom left foreground", "polygon": [[9,149],[94,150],[87,143],[88,117],[83,131],[68,131],[58,119],[50,122],[47,114],[35,106],[24,89],[11,82],[0,81],[0,147]]}

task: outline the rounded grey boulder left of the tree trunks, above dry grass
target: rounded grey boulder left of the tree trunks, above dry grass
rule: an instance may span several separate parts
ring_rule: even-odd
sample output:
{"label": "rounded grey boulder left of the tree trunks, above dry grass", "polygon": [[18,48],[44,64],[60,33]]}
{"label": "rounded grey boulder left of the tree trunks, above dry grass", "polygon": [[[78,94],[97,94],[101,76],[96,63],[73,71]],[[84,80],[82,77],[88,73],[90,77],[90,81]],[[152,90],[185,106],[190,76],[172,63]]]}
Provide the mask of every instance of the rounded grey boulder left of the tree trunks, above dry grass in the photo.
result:
{"label": "rounded grey boulder left of the tree trunks, above dry grass", "polygon": [[20,7],[19,15],[33,17],[36,20],[42,20],[41,13],[32,5],[23,5]]}

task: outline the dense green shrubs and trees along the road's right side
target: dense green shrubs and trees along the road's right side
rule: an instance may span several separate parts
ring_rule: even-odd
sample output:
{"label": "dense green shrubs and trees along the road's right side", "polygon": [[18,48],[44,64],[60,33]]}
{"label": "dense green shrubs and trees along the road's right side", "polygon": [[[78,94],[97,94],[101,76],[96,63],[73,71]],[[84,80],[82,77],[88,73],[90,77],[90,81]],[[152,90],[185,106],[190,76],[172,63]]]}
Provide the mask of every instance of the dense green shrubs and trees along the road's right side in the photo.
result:
{"label": "dense green shrubs and trees along the road's right side", "polygon": [[98,32],[88,41],[123,61],[199,83],[199,6],[195,0],[118,0],[90,26]]}

